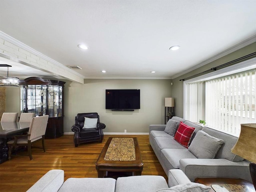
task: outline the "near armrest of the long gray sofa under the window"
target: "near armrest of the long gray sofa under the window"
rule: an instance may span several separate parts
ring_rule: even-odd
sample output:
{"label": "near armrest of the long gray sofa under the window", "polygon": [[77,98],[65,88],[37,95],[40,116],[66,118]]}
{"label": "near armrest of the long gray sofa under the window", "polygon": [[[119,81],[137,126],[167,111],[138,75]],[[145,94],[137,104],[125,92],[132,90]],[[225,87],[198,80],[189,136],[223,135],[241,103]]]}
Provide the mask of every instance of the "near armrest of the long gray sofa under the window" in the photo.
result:
{"label": "near armrest of the long gray sofa under the window", "polygon": [[195,178],[241,178],[252,182],[249,162],[226,159],[182,159],[180,170],[194,182]]}

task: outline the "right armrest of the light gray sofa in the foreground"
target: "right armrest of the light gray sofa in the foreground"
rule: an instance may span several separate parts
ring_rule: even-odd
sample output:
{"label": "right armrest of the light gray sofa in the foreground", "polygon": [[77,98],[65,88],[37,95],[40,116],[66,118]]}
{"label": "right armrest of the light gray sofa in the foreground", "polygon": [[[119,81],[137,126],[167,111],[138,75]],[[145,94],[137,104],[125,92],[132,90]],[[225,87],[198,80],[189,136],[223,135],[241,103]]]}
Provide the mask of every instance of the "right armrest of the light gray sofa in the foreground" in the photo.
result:
{"label": "right armrest of the light gray sofa in the foreground", "polygon": [[173,187],[191,182],[186,174],[180,169],[171,169],[168,173],[168,186]]}

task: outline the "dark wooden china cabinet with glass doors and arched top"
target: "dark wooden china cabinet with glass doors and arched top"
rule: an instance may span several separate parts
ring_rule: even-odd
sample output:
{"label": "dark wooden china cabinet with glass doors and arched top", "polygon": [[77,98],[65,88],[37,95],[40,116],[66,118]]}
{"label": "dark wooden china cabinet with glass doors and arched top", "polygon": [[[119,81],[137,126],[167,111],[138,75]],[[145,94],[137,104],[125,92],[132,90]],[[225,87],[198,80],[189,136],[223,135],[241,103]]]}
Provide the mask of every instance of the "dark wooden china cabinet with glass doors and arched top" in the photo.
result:
{"label": "dark wooden china cabinet with glass doors and arched top", "polygon": [[49,115],[45,138],[63,135],[63,93],[66,82],[29,77],[20,80],[20,111],[35,112],[36,116]]}

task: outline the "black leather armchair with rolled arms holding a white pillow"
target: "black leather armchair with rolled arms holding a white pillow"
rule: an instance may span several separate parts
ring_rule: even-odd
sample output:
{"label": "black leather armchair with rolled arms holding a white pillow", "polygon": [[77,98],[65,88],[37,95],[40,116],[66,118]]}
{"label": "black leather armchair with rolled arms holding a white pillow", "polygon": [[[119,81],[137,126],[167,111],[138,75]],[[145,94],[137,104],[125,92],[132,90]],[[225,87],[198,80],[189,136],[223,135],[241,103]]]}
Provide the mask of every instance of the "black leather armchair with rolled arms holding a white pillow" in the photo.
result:
{"label": "black leather armchair with rolled arms holding a white pillow", "polygon": [[[84,118],[98,118],[96,128],[83,128]],[[80,143],[99,141],[102,142],[104,134],[102,129],[106,127],[104,123],[100,123],[100,116],[98,113],[78,113],[75,118],[75,123],[71,130],[75,132],[74,134],[74,144],[75,147]]]}

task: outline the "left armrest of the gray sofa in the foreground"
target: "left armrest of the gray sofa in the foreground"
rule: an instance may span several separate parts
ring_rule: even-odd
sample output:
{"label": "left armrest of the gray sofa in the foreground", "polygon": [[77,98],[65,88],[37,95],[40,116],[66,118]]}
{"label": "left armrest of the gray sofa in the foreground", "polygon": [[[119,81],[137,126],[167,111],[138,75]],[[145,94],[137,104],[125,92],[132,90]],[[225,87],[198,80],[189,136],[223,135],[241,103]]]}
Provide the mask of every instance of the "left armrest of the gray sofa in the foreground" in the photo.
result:
{"label": "left armrest of the gray sofa in the foreground", "polygon": [[27,192],[57,192],[64,182],[64,170],[53,169],[42,176]]}

